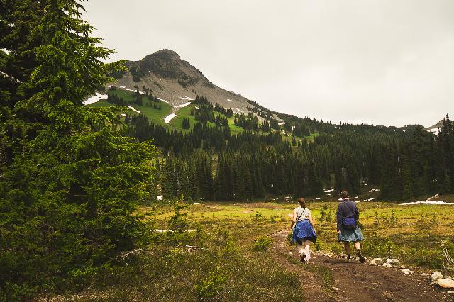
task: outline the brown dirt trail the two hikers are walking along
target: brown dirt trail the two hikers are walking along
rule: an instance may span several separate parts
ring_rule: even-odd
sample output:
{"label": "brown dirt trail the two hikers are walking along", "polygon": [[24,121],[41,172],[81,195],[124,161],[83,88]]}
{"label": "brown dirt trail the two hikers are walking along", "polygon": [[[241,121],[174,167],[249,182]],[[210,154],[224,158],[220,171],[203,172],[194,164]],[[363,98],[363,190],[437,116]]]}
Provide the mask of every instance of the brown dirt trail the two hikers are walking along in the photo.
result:
{"label": "brown dirt trail the two hikers are walking along", "polygon": [[[454,301],[453,295],[429,285],[428,277],[420,272],[405,275],[397,268],[360,264],[355,257],[346,262],[343,257],[320,254],[311,255],[310,264],[301,264],[297,251],[287,243],[288,233],[282,230],[272,235],[272,255],[301,276],[306,301]],[[331,272],[331,284],[321,276],[326,269]]]}

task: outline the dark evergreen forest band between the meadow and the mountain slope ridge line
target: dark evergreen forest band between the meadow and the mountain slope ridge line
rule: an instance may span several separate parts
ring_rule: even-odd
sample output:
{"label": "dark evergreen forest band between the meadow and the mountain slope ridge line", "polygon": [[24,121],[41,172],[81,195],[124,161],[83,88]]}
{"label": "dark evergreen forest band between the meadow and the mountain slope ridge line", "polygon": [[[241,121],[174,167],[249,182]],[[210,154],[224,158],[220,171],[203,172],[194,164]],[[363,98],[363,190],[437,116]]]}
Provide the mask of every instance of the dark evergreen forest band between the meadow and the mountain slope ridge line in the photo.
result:
{"label": "dark evergreen forest band between the meadow and the mountain slope ridge line", "polygon": [[[205,116],[215,116],[213,106],[206,108]],[[317,133],[314,142],[306,138],[289,142],[281,131],[258,131],[257,118],[250,114],[233,117],[237,121],[255,118],[250,123],[255,131],[231,135],[228,127],[211,127],[201,118],[192,130],[182,133],[139,115],[131,118],[128,135],[140,141],[152,139],[162,150],[155,185],[168,199],[181,194],[217,201],[248,201],[265,194],[316,196],[326,187],[357,194],[362,184],[372,184],[382,188],[382,198],[399,200],[454,188],[449,116],[438,135],[421,125],[401,129],[334,125],[282,116],[284,133],[303,137]]]}

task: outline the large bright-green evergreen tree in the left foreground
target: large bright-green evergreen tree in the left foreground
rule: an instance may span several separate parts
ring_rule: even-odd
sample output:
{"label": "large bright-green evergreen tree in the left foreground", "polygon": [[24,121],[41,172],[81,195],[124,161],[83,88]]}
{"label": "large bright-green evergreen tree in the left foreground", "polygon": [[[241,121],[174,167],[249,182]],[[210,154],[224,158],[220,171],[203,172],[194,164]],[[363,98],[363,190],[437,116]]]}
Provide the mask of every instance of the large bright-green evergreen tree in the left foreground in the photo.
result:
{"label": "large bright-green evergreen tree in the left foreground", "polygon": [[102,63],[113,51],[92,38],[82,9],[80,1],[8,1],[13,13],[5,17],[18,31],[1,35],[0,49],[11,50],[1,50],[1,65],[19,81],[1,85],[0,291],[7,299],[108,265],[143,238],[133,211],[149,198],[155,150],[121,135],[120,108],[82,105],[120,66]]}

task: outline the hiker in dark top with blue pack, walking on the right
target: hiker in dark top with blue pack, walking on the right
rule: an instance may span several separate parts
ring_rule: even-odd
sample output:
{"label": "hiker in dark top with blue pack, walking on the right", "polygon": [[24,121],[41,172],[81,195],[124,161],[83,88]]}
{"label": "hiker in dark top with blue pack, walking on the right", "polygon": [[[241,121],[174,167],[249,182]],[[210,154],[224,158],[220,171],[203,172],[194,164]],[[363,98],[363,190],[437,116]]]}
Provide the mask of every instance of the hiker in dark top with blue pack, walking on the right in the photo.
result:
{"label": "hiker in dark top with blue pack, walking on the right", "polygon": [[345,253],[347,260],[350,261],[350,242],[354,242],[356,255],[361,263],[365,262],[364,257],[361,255],[361,241],[364,239],[360,228],[358,227],[358,219],[360,218],[360,211],[356,203],[350,201],[348,198],[348,191],[341,192],[342,201],[338,205],[338,213],[336,215],[338,221],[338,242],[343,242],[345,246]]}

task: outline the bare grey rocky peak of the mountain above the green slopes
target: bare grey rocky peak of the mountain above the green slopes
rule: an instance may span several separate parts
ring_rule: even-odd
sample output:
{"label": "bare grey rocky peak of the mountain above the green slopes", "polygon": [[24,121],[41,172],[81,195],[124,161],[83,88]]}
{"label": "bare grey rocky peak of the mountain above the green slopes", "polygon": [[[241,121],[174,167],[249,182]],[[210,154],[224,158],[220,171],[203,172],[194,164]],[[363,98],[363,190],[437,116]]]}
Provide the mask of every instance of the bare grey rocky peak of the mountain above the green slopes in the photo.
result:
{"label": "bare grey rocky peak of the mountain above the green slopes", "polygon": [[238,113],[247,113],[255,107],[253,101],[210,82],[199,69],[182,60],[173,50],[159,50],[142,60],[126,61],[125,65],[128,70],[114,74],[116,81],[111,85],[123,89],[138,87],[140,91],[151,89],[153,96],[167,101],[174,108],[196,99],[196,96],[205,96],[211,103],[232,108]]}

